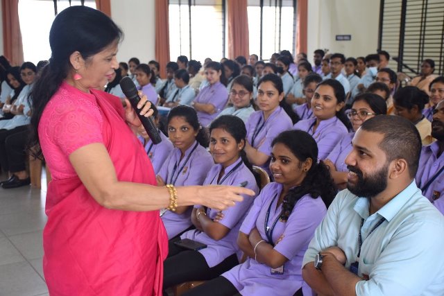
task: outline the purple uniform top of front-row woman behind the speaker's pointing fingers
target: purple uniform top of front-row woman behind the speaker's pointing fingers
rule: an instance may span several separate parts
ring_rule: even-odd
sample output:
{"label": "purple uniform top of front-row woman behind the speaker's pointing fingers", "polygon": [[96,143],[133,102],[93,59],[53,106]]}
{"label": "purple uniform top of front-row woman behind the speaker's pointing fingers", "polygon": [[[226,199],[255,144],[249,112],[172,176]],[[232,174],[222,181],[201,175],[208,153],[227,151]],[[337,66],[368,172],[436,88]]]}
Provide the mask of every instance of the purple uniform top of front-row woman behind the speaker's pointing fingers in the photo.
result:
{"label": "purple uniform top of front-row woman behind the speaker's pointing fingers", "polygon": [[[213,166],[203,184],[238,186],[241,182],[247,181],[248,184],[246,185],[246,188],[251,189],[256,193],[259,192],[253,173],[251,173],[251,171],[246,167],[241,158],[237,159],[234,164],[225,169],[225,172],[218,183],[217,178],[219,177],[221,168],[221,164],[216,164]],[[254,197],[244,196],[243,201],[237,202],[234,207],[229,207],[228,209],[222,211],[224,216],[219,223],[225,227],[228,227],[230,232],[228,232],[228,234],[219,241],[214,241],[214,239],[207,236],[205,232],[200,232],[198,229],[189,230],[182,234],[180,238],[189,238],[194,241],[198,241],[199,243],[205,243],[207,247],[199,250],[199,252],[205,257],[205,261],[207,261],[210,268],[218,265],[232,254],[237,254],[238,259],[240,259],[241,252],[239,250],[239,246],[237,245],[237,235],[239,234],[239,228],[241,227],[242,221],[244,220],[248,209],[250,209],[251,204],[253,204],[253,200]],[[215,209],[207,209],[207,216],[211,219],[214,219],[217,213],[219,213],[219,211]]]}

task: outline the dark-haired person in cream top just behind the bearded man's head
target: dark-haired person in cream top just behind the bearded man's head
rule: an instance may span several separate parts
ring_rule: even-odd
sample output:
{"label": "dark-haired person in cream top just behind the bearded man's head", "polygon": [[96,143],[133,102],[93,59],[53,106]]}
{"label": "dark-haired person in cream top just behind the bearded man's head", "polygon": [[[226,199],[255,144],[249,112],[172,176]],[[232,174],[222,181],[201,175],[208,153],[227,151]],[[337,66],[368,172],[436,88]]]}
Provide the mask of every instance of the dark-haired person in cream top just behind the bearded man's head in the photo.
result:
{"label": "dark-haired person in cream top just behind the bearded man's head", "polygon": [[429,103],[429,96],[418,87],[402,87],[393,95],[395,114],[408,119],[416,126],[423,146],[434,141],[432,123],[422,114],[427,103]]}

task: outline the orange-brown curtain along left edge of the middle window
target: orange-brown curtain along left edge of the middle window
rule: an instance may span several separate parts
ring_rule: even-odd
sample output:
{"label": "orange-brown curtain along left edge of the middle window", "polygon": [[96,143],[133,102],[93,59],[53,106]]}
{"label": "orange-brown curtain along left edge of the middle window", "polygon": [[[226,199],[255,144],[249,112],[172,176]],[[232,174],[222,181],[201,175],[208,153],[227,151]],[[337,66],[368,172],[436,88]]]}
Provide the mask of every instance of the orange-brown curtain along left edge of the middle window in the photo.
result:
{"label": "orange-brown curtain along left edge of the middle window", "polygon": [[167,76],[169,62],[168,0],[155,1],[155,59],[160,64],[160,77]]}

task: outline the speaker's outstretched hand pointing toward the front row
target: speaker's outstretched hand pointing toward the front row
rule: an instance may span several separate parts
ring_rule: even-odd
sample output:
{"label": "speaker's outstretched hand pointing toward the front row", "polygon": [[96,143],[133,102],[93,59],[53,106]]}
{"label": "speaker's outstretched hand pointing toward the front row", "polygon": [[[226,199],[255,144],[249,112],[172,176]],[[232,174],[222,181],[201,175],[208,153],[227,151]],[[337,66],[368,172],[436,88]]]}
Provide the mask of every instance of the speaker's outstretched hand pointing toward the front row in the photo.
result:
{"label": "speaker's outstretched hand pointing toward the front row", "polygon": [[200,200],[198,204],[223,211],[228,207],[234,206],[236,202],[241,202],[242,200],[244,200],[244,197],[242,197],[241,195],[254,196],[255,191],[239,186],[201,186],[198,189],[198,198]]}

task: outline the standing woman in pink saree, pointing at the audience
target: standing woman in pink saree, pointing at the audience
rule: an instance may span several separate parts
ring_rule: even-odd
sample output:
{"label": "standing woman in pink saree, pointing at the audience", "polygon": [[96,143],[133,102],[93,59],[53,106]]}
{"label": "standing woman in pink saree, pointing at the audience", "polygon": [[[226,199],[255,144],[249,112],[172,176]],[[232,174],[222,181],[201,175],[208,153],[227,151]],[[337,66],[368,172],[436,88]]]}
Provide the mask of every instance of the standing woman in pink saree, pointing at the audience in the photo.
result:
{"label": "standing woman in pink saree, pointing at the audience", "polygon": [[[60,12],[51,59],[31,96],[35,132],[53,180],[46,196],[44,277],[51,295],[161,295],[167,234],[159,209],[174,194],[155,186],[141,125],[127,101],[101,89],[114,69],[121,30],[98,10]],[[146,96],[141,114],[151,116]],[[144,105],[144,103],[146,103]],[[253,191],[178,187],[177,206],[224,209]]]}

